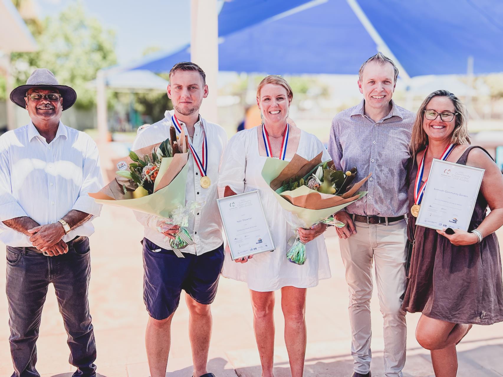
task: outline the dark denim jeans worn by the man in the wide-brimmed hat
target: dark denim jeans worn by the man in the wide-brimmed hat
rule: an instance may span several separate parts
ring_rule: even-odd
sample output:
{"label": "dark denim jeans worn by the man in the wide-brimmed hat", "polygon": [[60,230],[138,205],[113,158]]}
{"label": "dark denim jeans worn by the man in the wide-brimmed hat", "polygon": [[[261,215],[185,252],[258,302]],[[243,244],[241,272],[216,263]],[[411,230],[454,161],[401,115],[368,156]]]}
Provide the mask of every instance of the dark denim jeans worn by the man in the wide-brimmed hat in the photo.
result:
{"label": "dark denim jeans worn by the man in the wide-brimmed hat", "polygon": [[12,377],[39,377],[35,369],[42,307],[52,282],[63,317],[73,376],[96,376],[96,344],[89,314],[91,273],[89,239],[68,243],[68,252],[44,256],[23,247],[7,246],[7,299]]}

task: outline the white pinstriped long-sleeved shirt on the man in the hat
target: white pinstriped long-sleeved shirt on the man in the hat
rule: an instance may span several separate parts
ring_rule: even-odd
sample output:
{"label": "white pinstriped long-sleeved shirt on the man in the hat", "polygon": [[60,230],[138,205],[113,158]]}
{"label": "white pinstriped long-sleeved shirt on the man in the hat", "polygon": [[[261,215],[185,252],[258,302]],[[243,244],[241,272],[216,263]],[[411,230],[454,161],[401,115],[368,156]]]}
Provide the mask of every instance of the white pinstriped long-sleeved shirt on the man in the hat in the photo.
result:
{"label": "white pinstriped long-sleeved shirt on the man in the hat", "polygon": [[[59,122],[56,137],[47,144],[30,122],[0,136],[0,221],[27,216],[46,225],[70,210],[99,216],[101,205],[88,193],[102,187],[98,148],[86,133]],[[33,246],[25,234],[1,225],[0,240],[6,245]],[[87,221],[63,241],[93,233]]]}

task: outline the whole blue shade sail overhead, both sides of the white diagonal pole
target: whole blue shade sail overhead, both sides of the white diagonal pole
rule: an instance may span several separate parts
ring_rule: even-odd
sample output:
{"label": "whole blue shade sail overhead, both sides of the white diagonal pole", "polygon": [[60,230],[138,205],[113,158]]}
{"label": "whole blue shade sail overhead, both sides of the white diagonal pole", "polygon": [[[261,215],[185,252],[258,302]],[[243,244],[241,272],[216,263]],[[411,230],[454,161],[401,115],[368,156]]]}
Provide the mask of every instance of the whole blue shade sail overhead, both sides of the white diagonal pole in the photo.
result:
{"label": "whole blue shade sail overhead, both sides of the white diagonal pole", "polygon": [[[470,56],[475,74],[503,71],[503,2],[356,2],[409,76],[464,74]],[[356,74],[377,52],[345,0],[233,0],[222,7],[219,33],[221,71]],[[133,69],[168,71],[187,60],[190,46],[141,61]]]}

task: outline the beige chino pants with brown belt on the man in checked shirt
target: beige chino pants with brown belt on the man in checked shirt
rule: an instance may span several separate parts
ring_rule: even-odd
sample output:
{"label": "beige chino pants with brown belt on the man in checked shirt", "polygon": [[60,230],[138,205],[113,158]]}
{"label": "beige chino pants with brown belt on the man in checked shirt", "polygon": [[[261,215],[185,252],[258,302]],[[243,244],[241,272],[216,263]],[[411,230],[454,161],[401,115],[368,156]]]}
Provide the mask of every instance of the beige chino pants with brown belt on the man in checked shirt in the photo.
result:
{"label": "beige chino pants with brown belt on the man in checked shirt", "polygon": [[372,297],[372,260],[379,305],[384,318],[384,370],[387,377],[401,377],[405,364],[407,329],[401,310],[405,290],[406,221],[388,225],[355,222],[356,234],[340,240],[341,256],[349,286],[349,317],[352,331],[351,354],[354,369],[370,369],[370,298]]}

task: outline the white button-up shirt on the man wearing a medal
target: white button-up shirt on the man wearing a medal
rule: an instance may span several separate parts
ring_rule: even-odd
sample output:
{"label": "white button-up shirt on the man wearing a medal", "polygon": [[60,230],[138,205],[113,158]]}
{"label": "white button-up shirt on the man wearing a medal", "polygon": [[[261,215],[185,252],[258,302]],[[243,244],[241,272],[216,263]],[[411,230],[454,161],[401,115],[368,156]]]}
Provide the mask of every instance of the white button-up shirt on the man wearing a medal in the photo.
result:
{"label": "white button-up shirt on the man wearing a medal", "polygon": [[[170,138],[170,127],[172,125],[171,117],[174,111],[166,111],[164,119],[138,130],[138,135],[134,140],[132,150],[137,150],[149,145],[160,143]],[[188,135],[185,123],[180,122]],[[203,129],[204,124],[204,129]],[[194,163],[194,157],[189,151],[189,170],[187,173],[187,182],[185,184],[185,201],[197,202],[201,205],[200,210],[196,211],[194,217],[189,218],[188,230],[195,242],[195,245],[185,247],[184,253],[201,255],[214,250],[223,243],[222,238],[222,220],[217,207],[217,180],[218,167],[222,153],[227,145],[227,134],[225,130],[217,124],[207,122],[199,117],[199,121],[194,125],[194,137],[192,145],[201,158],[203,150],[204,133],[208,143],[208,170],[207,176],[211,179],[211,185],[208,189],[201,187],[201,172]],[[163,249],[171,250],[169,239],[156,229],[157,218],[141,212],[135,212],[138,221],[145,227],[145,238],[152,241]]]}

